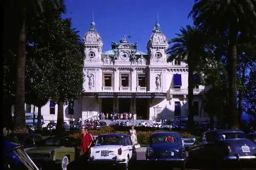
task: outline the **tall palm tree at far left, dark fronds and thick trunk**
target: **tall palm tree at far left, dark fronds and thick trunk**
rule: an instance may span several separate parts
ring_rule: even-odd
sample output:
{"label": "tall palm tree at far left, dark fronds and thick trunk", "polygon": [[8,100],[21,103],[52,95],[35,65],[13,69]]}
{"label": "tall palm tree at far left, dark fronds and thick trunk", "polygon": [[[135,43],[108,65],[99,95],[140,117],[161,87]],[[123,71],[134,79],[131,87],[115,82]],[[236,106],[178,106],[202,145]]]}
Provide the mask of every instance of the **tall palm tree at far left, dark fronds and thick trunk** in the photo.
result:
{"label": "tall palm tree at far left, dark fronds and thick trunk", "polygon": [[[44,7],[53,8],[65,12],[63,0],[37,0],[37,1],[9,1],[11,11],[18,16],[17,39],[17,70],[16,93],[14,110],[14,131],[26,132],[25,124],[25,66],[26,66],[26,27],[27,20],[35,14],[43,12]],[[49,6],[49,4],[51,5]],[[10,5],[11,4],[11,5]]]}

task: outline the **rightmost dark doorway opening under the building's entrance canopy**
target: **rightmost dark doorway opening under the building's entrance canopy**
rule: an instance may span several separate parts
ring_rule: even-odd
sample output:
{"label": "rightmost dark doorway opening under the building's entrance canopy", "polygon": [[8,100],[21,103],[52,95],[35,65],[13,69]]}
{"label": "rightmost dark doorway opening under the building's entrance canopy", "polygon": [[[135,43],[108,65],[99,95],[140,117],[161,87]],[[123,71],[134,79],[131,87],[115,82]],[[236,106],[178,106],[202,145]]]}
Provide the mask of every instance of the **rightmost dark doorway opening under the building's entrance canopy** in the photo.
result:
{"label": "rightmost dark doorway opening under the building's entrance canopy", "polygon": [[148,119],[147,117],[147,99],[136,99],[137,119]]}

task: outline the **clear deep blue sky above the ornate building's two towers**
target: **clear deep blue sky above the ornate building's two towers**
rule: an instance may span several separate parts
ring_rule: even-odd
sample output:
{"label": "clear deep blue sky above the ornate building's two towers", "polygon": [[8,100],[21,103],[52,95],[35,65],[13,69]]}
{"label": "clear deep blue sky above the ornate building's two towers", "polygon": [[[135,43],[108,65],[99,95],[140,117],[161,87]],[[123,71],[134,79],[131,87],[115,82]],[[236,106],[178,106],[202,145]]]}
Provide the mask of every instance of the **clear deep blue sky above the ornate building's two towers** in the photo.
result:
{"label": "clear deep blue sky above the ornate building's two towers", "polygon": [[130,35],[138,42],[138,50],[146,52],[146,43],[155,27],[157,13],[161,31],[167,39],[175,37],[181,27],[192,25],[188,13],[194,0],[66,0],[67,13],[73,27],[82,37],[90,28],[92,11],[96,29],[103,41],[103,52],[111,49],[111,41]]}

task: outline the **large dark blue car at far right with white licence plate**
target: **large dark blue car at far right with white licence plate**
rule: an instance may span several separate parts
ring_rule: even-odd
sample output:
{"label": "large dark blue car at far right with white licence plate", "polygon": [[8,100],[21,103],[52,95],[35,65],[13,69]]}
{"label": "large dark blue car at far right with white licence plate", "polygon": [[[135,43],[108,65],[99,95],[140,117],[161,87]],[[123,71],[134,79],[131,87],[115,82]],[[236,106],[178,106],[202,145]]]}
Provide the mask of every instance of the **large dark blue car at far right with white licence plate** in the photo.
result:
{"label": "large dark blue car at far right with white licence plate", "polygon": [[256,160],[256,144],[249,140],[243,131],[206,131],[202,133],[201,140],[189,148],[189,162],[204,162],[208,166],[216,166],[225,165],[223,163],[230,161],[233,164],[244,160]]}

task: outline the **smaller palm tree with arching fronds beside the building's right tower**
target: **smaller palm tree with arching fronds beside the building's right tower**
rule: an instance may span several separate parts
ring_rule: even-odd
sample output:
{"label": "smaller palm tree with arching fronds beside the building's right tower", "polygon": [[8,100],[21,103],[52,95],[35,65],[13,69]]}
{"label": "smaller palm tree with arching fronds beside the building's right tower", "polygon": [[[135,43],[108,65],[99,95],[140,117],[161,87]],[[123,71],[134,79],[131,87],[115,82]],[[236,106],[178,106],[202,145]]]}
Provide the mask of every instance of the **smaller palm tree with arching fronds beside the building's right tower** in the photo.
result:
{"label": "smaller palm tree with arching fronds beside the building's right tower", "polygon": [[202,32],[195,27],[186,26],[186,28],[181,28],[180,32],[176,34],[178,37],[169,41],[171,46],[167,50],[167,54],[170,55],[167,61],[170,62],[176,58],[188,65],[188,128],[193,130],[193,75],[197,62],[204,54],[205,41]]}

